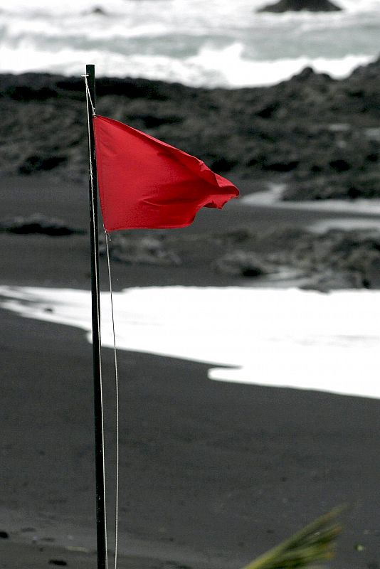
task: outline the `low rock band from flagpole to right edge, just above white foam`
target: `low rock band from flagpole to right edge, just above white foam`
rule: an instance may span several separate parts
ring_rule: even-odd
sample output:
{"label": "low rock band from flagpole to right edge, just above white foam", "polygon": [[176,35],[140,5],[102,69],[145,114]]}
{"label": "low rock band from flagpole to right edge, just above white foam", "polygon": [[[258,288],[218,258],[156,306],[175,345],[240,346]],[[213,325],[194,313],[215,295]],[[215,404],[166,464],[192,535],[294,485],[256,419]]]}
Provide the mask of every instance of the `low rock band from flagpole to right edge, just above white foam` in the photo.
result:
{"label": "low rock band from flagpole to right edge, just above white foam", "polygon": [[[105,255],[105,245],[100,246]],[[220,275],[278,282],[291,280],[305,289],[380,289],[380,233],[278,227],[255,233],[241,228],[228,233],[191,235],[162,230],[157,237],[143,231],[112,236],[110,255],[128,265],[199,267]]]}

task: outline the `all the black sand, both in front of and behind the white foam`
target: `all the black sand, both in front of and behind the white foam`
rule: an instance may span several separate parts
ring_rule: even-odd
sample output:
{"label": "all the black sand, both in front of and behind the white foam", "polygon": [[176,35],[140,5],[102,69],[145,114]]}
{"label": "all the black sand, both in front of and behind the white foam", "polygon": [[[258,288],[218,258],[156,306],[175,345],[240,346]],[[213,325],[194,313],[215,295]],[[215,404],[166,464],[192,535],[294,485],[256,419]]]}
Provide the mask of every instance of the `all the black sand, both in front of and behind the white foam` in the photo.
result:
{"label": "all the black sand, both in front of and behind the white foam", "polygon": [[[86,230],[87,185],[72,174],[58,168],[4,175],[1,217],[39,213]],[[242,193],[252,186],[247,177]],[[222,212],[202,211],[183,235],[307,228],[337,217],[236,201]],[[89,288],[88,235],[0,232],[0,242],[1,285]],[[208,255],[178,266],[112,262],[115,288],[247,284],[216,272]],[[104,258],[101,275],[106,288]],[[0,567],[94,567],[91,346],[78,329],[0,313]],[[349,510],[329,566],[380,566],[379,401],[213,382],[205,364],[119,357],[120,568],[238,569],[342,503]],[[115,394],[108,349],[104,365],[112,550]]]}

